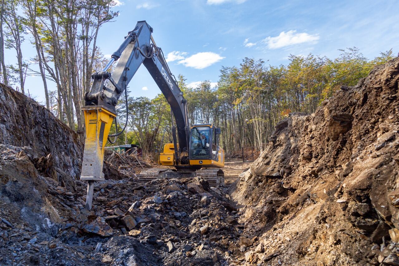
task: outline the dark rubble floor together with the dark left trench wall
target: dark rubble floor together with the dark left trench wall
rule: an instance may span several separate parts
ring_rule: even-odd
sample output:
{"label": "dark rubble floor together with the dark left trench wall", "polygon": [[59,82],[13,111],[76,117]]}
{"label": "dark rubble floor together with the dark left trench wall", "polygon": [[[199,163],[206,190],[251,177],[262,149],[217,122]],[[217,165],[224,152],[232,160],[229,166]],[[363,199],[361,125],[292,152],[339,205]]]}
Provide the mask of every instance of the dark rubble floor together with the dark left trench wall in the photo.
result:
{"label": "dark rubble floor together with the dark left trench wall", "polygon": [[[227,265],[242,224],[203,180],[140,184],[149,165],[105,155],[93,209],[78,180],[78,136],[43,106],[0,84],[1,265]],[[231,246],[231,247],[230,247]]]}

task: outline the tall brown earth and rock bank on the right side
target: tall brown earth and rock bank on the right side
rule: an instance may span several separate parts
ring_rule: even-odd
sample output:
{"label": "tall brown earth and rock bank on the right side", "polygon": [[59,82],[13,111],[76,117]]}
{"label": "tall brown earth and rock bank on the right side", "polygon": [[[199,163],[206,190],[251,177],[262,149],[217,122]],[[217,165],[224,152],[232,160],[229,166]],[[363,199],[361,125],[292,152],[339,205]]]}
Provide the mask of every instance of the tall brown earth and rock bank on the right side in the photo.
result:
{"label": "tall brown earth and rock bank on the right side", "polygon": [[259,237],[247,247],[247,262],[398,261],[398,81],[396,58],[315,113],[291,113],[276,126],[233,188],[246,214],[244,233]]}

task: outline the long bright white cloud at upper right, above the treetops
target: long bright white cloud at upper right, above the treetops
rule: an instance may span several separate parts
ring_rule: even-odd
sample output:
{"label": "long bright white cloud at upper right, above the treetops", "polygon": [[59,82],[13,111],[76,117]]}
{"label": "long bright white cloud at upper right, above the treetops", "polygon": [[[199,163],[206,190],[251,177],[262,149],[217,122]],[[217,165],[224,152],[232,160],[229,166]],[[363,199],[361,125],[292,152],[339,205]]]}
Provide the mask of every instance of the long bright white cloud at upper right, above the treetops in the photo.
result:
{"label": "long bright white cloud at upper right, above the treetops", "polygon": [[317,34],[311,35],[305,32],[296,33],[296,30],[290,30],[288,32],[281,32],[280,35],[276,37],[269,36],[263,39],[263,42],[267,44],[269,49],[277,49],[305,42],[316,43],[319,38]]}

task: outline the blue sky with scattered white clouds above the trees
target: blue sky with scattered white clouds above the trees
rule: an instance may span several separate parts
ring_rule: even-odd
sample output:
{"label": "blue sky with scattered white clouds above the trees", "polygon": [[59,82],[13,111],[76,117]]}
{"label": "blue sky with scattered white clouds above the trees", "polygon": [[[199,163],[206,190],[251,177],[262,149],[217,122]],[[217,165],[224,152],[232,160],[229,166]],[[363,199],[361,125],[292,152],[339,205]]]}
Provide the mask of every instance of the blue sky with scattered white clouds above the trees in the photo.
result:
{"label": "blue sky with scattered white clouds above the trees", "polygon": [[[338,49],[353,46],[367,58],[391,48],[397,54],[398,6],[396,0],[119,0],[113,9],[120,15],[101,28],[97,44],[110,55],[137,21],[146,20],[176,77],[184,75],[191,85],[205,79],[215,84],[221,66],[238,66],[245,57],[276,66],[288,64],[290,54],[334,58]],[[23,52],[29,58],[35,50],[26,41]],[[6,64],[15,62],[8,51]],[[44,101],[40,77],[27,77],[25,87]],[[134,97],[160,93],[144,66],[129,87]]]}

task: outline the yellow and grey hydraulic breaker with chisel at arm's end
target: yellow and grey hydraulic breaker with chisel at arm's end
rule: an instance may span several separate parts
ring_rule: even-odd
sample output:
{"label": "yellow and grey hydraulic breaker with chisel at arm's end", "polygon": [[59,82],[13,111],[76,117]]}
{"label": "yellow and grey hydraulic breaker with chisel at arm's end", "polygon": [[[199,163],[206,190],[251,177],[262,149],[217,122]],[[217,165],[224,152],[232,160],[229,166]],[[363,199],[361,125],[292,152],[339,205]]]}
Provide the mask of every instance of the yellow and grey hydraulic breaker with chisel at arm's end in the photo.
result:
{"label": "yellow and grey hydraulic breaker with chisel at arm's end", "polygon": [[86,140],[83,152],[81,180],[87,185],[86,208],[91,210],[94,181],[104,181],[104,147],[113,119],[117,116],[103,105],[82,106],[85,117]]}

